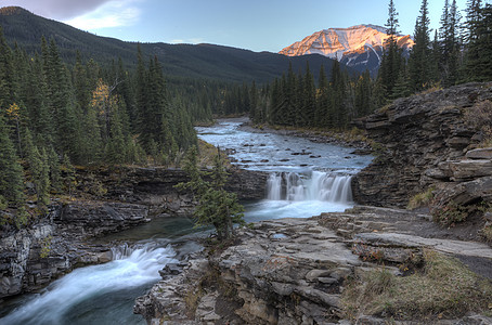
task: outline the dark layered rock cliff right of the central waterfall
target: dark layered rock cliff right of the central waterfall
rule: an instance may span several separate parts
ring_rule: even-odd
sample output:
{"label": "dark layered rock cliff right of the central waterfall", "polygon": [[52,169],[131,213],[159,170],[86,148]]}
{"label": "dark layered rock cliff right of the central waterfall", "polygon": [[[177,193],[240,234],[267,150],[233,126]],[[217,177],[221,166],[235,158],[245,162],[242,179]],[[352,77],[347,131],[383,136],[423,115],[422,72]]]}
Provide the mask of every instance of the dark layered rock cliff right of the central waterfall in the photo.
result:
{"label": "dark layered rock cliff right of the central waterfall", "polygon": [[[491,176],[491,157],[474,158],[472,151],[484,136],[474,121],[480,118],[474,109],[490,100],[491,84],[468,83],[399,99],[355,121],[377,143],[377,158],[352,181],[355,202],[402,207],[430,186],[443,193],[464,182],[484,183],[482,178]],[[471,194],[463,203],[490,196],[482,194]]]}

